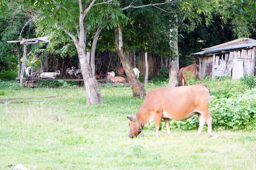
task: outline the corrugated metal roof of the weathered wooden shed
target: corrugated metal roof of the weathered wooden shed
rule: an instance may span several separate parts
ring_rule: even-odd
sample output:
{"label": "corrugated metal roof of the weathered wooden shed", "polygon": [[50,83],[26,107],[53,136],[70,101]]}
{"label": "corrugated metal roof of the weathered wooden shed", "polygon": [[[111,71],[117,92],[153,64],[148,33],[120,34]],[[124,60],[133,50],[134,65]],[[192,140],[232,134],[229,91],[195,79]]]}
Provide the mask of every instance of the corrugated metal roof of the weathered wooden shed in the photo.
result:
{"label": "corrugated metal roof of the weathered wooden shed", "polygon": [[256,46],[256,40],[254,39],[237,39],[230,42],[226,42],[220,45],[212,46],[210,48],[205,48],[201,52],[197,52],[191,55],[203,55],[209,53],[215,53],[220,51],[227,51],[232,49],[245,48],[249,46]]}

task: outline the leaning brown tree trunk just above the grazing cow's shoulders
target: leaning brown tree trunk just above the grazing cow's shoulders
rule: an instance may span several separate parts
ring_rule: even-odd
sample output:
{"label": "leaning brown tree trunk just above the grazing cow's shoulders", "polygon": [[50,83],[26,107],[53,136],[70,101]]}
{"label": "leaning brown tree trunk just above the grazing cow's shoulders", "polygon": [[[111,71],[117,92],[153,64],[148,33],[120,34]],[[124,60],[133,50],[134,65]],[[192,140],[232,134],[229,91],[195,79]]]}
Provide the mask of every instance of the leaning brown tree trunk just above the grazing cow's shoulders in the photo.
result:
{"label": "leaning brown tree trunk just above the grazing cow's shoulders", "polygon": [[144,85],[142,84],[142,82],[139,81],[139,79],[135,75],[133,71],[133,67],[131,66],[131,62],[127,57],[125,50],[121,49],[122,46],[123,46],[122,27],[117,26],[115,28],[115,49],[122,62],[123,69],[125,70],[131,89],[133,90],[133,96],[138,98],[145,98],[146,90],[144,88]]}

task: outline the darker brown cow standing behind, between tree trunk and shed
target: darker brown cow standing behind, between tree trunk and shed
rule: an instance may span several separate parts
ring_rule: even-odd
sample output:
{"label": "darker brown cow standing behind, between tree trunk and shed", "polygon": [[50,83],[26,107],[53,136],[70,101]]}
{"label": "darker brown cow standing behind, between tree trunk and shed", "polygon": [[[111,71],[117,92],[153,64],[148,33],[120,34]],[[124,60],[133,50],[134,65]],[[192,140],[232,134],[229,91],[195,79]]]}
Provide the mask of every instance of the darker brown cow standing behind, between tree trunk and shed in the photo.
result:
{"label": "darker brown cow standing behind, between tree trunk and shed", "polygon": [[178,86],[180,86],[181,84],[182,84],[182,86],[184,86],[186,84],[187,76],[184,76],[184,75],[189,70],[190,70],[189,78],[192,78],[192,73],[193,73],[193,77],[195,78],[195,80],[198,78],[202,83],[202,76],[201,76],[200,66],[198,66],[197,64],[192,64],[190,66],[182,67],[180,69],[180,71],[179,71],[179,83],[180,84]]}

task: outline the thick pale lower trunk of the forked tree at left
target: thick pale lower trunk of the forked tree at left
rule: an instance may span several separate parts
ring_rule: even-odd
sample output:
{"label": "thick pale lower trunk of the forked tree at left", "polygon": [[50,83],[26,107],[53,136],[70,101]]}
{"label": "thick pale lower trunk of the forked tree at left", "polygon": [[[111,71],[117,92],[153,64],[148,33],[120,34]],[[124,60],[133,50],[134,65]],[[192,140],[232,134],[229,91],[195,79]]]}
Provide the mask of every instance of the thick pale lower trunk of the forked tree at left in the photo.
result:
{"label": "thick pale lower trunk of the forked tree at left", "polygon": [[103,104],[98,82],[96,81],[95,75],[93,75],[93,71],[87,61],[86,51],[80,44],[75,45],[78,51],[81,72],[86,88],[86,104]]}

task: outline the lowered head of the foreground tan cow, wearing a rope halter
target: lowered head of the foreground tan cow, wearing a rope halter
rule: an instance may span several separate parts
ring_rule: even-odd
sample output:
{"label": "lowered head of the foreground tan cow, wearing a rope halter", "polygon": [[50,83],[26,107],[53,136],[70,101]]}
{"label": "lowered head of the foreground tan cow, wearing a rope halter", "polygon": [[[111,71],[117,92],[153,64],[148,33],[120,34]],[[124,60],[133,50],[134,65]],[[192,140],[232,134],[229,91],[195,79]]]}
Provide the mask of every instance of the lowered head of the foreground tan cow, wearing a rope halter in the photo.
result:
{"label": "lowered head of the foreground tan cow, wearing a rope halter", "polygon": [[[134,138],[137,137],[143,130],[143,127],[139,124],[138,119],[136,118],[136,113],[133,116],[127,115],[127,118],[130,119],[129,126],[130,126],[130,133],[129,137]],[[143,135],[142,135],[143,137]]]}

